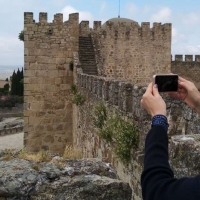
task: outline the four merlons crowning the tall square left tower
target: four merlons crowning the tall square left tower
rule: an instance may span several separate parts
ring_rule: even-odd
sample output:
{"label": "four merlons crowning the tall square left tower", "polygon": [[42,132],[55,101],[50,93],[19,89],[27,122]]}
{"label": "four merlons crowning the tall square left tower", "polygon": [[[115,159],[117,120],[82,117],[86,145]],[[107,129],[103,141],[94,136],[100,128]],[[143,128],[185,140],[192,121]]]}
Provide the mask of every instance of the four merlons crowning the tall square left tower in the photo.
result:
{"label": "four merlons crowning the tall square left tower", "polygon": [[[79,20],[79,13],[73,13],[69,15],[69,20],[66,22],[77,22]],[[63,22],[63,14],[57,13],[54,15],[53,23],[54,24],[62,24],[66,23]],[[33,13],[32,12],[25,12],[24,13],[24,24],[34,24],[35,20],[33,19]],[[46,12],[40,12],[39,13],[39,22],[38,23],[48,23],[48,14]]]}

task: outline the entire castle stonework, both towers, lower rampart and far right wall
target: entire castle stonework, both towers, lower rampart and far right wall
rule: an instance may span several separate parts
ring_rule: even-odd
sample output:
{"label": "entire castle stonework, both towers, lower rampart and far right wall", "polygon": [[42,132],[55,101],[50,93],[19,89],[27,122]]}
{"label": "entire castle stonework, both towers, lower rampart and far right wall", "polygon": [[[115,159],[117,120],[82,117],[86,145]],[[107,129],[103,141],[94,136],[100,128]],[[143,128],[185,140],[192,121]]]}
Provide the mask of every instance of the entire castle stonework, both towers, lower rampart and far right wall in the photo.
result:
{"label": "entire castle stonework, both towers, lower rampart and far right wall", "polygon": [[[176,56],[171,61],[171,24],[134,22],[129,28],[120,23],[117,28],[107,22],[78,23],[78,14],[71,14],[63,22],[56,14],[52,23],[47,14],[40,13],[35,23],[32,13],[24,16],[25,45],[25,146],[28,151],[41,149],[63,153],[66,144],[83,149],[84,157],[99,157],[111,162],[119,177],[128,182],[133,199],[141,199],[144,141],[150,128],[150,116],[140,106],[140,99],[152,75],[172,71],[198,83],[199,56],[196,61]],[[94,43],[99,76],[81,74],[78,68],[71,72],[69,63],[79,64],[79,36],[90,36]],[[171,67],[172,65],[172,67]],[[190,75],[190,71],[192,71]],[[194,73],[195,72],[195,73]],[[84,105],[72,105],[71,85],[87,96]],[[183,102],[164,96],[170,122],[170,159],[177,177],[197,174],[200,155],[200,119]],[[113,153],[113,147],[103,141],[94,127],[94,106],[103,102],[108,111],[119,113],[133,121],[140,130],[140,143],[132,153],[130,164],[124,165]],[[182,135],[186,135],[183,139]],[[181,151],[179,151],[181,149]],[[193,154],[195,152],[195,154]],[[187,156],[184,157],[184,154]],[[180,162],[181,161],[181,162]],[[190,165],[189,163],[192,163]]]}

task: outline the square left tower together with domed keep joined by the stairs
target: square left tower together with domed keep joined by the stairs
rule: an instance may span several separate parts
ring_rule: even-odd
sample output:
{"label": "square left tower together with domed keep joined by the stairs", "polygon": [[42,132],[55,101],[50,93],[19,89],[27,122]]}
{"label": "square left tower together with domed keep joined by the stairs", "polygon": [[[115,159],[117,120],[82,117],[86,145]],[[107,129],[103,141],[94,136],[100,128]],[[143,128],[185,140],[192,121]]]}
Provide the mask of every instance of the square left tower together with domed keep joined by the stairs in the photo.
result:
{"label": "square left tower together with domed keep joined by the stairs", "polygon": [[69,64],[79,50],[79,36],[87,47],[85,38],[91,38],[98,75],[144,85],[153,74],[171,71],[171,24],[154,23],[150,28],[149,23],[139,26],[130,19],[114,18],[102,26],[96,21],[91,29],[88,21],[79,25],[78,14],[69,15],[66,22],[62,14],[56,14],[49,23],[47,13],[40,13],[36,23],[33,13],[24,13],[24,140],[28,151],[63,153],[66,144],[73,143]]}

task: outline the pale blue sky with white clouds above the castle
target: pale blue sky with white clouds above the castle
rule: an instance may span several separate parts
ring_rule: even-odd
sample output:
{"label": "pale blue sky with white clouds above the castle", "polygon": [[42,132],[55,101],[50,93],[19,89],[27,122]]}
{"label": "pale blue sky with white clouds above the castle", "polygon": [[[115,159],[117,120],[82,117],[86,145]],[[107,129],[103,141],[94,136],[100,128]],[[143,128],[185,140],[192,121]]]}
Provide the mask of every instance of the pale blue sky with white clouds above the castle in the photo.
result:
{"label": "pale blue sky with white clouds above the castle", "polygon": [[[0,0],[0,66],[23,66],[23,42],[18,34],[23,29],[24,12],[53,15],[79,12],[80,21],[105,22],[117,17],[119,0]],[[172,54],[200,55],[200,0],[121,0],[121,17],[141,22],[172,23]]]}

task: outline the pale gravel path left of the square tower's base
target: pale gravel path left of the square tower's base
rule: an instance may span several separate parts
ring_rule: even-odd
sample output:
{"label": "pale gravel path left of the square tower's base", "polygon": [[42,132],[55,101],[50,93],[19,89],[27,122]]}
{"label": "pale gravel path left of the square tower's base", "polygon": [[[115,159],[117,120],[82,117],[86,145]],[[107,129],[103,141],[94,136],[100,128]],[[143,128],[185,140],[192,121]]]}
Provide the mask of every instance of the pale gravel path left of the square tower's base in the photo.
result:
{"label": "pale gravel path left of the square tower's base", "polygon": [[0,150],[23,149],[23,147],[24,147],[23,132],[0,137]]}

